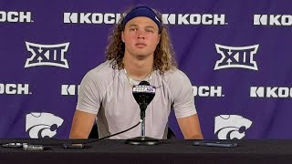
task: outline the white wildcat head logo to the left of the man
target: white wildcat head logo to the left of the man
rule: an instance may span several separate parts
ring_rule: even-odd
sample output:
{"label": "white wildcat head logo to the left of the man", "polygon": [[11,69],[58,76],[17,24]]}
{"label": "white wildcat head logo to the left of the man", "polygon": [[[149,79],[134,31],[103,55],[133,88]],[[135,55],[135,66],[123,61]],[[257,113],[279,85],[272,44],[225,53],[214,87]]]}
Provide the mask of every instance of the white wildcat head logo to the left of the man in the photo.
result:
{"label": "white wildcat head logo to the left of the man", "polygon": [[30,138],[53,138],[63,121],[50,113],[30,113],[26,115],[26,132]]}

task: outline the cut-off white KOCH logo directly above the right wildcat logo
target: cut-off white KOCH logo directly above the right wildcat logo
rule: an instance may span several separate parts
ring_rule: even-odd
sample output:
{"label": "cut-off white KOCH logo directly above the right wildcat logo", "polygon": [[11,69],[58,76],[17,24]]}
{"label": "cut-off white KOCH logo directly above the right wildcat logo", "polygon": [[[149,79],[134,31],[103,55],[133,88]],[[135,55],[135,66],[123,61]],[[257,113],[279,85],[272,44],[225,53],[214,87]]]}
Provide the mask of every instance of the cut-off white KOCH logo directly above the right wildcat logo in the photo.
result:
{"label": "cut-off white KOCH logo directly above the right wildcat logo", "polygon": [[292,97],[292,87],[250,87],[250,97]]}

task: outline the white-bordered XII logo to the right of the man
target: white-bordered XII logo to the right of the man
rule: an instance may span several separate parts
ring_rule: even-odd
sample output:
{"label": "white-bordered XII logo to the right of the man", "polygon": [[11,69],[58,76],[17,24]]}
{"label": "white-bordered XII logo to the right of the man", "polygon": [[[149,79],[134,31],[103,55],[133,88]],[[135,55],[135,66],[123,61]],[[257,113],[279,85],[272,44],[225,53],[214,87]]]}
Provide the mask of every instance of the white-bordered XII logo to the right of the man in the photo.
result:
{"label": "white-bordered XII logo to the right of the man", "polygon": [[258,70],[254,60],[258,45],[254,46],[222,46],[217,45],[217,53],[222,57],[215,64],[214,70],[242,67],[246,69]]}

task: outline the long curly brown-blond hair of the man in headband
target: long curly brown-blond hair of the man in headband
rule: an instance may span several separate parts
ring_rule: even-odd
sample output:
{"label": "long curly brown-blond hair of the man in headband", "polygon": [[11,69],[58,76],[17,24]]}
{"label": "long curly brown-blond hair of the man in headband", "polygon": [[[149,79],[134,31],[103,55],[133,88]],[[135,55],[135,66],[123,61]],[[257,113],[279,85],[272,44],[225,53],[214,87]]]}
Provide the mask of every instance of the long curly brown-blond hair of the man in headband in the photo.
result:
{"label": "long curly brown-blond hair of the man in headband", "polygon": [[[114,26],[109,37],[110,43],[106,48],[106,58],[107,60],[111,60],[111,65],[114,69],[120,70],[123,68],[125,44],[121,40],[121,33],[123,31],[122,22],[125,18],[125,15],[130,13],[133,8],[135,7],[131,7],[125,12],[125,14],[121,14],[119,23]],[[152,10],[162,22],[162,14],[154,9]],[[159,70],[159,72],[163,74],[165,71],[176,68],[177,65],[175,62],[174,51],[167,26],[162,24],[159,29],[159,33],[161,35],[161,40],[154,51],[153,69]]]}

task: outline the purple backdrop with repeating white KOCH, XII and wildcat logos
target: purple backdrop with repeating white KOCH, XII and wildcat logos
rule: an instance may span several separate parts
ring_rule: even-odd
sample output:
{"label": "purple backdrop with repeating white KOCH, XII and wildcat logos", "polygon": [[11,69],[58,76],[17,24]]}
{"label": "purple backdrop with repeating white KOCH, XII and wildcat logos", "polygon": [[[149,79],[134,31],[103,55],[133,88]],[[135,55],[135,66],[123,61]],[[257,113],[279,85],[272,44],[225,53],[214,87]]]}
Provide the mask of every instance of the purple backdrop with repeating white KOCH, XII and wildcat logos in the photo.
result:
{"label": "purple backdrop with repeating white KOCH, XII and wildcat logos", "polygon": [[[0,0],[0,138],[68,138],[78,85],[134,5],[162,12],[204,138],[292,138],[284,0]],[[182,138],[173,114],[170,126]]]}

